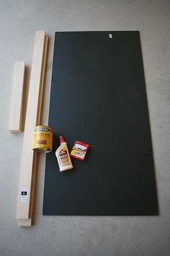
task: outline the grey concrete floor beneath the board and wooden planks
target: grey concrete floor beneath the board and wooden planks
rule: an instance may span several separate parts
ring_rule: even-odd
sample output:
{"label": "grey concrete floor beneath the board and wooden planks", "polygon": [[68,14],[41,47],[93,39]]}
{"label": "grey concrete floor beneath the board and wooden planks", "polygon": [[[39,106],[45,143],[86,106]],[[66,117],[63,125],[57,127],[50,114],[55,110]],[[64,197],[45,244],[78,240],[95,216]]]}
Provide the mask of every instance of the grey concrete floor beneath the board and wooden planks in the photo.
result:
{"label": "grey concrete floor beneath the board and wooden planks", "polygon": [[[0,255],[170,255],[170,1],[0,0]],[[50,36],[42,124],[48,124],[55,31],[140,30],[160,216],[42,216],[45,155],[37,170],[35,225],[17,226],[22,134],[8,132],[14,61],[32,64],[35,30]],[[25,106],[24,106],[25,107]]]}

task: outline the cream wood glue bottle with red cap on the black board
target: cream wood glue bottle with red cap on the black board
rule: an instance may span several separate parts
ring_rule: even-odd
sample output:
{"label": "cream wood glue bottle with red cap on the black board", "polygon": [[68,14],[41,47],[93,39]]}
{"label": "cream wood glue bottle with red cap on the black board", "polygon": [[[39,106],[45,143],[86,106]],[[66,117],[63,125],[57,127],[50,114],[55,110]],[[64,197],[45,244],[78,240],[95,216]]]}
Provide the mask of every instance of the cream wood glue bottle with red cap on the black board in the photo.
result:
{"label": "cream wood glue bottle with red cap on the black board", "polygon": [[60,136],[60,147],[55,151],[56,158],[58,160],[58,165],[60,171],[67,171],[73,168],[71,163],[70,154],[68,152],[67,143],[63,139],[63,136]]}

